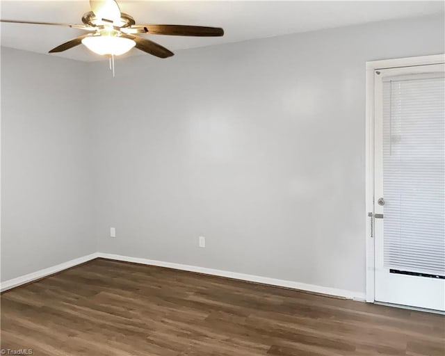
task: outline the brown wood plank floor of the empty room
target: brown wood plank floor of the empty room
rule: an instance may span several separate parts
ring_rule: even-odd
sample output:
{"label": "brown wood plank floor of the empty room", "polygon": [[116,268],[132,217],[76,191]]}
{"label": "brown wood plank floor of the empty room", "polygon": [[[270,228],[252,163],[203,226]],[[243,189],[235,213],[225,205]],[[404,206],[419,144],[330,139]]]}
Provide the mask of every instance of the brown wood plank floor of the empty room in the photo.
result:
{"label": "brown wood plank floor of the empty room", "polygon": [[31,348],[33,355],[444,356],[445,316],[96,259],[3,293],[1,348]]}

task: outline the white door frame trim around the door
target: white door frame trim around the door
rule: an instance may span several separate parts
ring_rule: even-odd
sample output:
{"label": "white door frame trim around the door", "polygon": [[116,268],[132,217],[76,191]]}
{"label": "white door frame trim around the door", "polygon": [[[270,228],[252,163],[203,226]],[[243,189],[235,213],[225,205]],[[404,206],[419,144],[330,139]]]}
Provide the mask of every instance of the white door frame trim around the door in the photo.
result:
{"label": "white door frame trim around the door", "polygon": [[[366,62],[366,302],[375,302],[375,249],[374,249],[374,71],[396,67],[413,67],[445,63],[445,54],[431,56],[373,60]],[[371,214],[371,215],[369,215]]]}

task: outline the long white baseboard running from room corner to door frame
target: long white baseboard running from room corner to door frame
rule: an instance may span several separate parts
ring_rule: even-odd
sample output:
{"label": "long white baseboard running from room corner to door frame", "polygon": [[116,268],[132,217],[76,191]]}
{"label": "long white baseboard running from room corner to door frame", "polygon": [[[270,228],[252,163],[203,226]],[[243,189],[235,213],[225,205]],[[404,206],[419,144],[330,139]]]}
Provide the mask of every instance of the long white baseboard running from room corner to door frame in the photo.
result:
{"label": "long white baseboard running from room corner to door frame", "polygon": [[206,275],[217,275],[220,277],[233,278],[234,280],[245,280],[245,281],[249,281],[249,282],[270,284],[273,286],[284,286],[286,288],[298,289],[300,291],[310,291],[310,292],[314,292],[314,293],[322,293],[322,294],[327,294],[330,296],[343,297],[343,298],[359,300],[359,301],[365,300],[365,293],[360,293],[360,292],[356,292],[356,291],[348,291],[345,289],[330,288],[327,286],[316,286],[314,284],[306,284],[306,283],[292,282],[292,281],[286,281],[286,280],[277,280],[275,278],[270,278],[270,277],[247,275],[245,273],[229,272],[227,270],[216,270],[213,268],[190,266],[190,265],[186,265],[186,264],[175,264],[172,262],[156,261],[154,259],[141,259],[141,258],[137,258],[137,257],[127,257],[127,256],[122,256],[120,254],[108,254],[108,253],[98,252],[97,257],[101,257],[104,259],[115,259],[118,261],[133,262],[136,264],[147,264],[150,266],[175,268],[177,270],[188,270],[190,272],[204,273]]}

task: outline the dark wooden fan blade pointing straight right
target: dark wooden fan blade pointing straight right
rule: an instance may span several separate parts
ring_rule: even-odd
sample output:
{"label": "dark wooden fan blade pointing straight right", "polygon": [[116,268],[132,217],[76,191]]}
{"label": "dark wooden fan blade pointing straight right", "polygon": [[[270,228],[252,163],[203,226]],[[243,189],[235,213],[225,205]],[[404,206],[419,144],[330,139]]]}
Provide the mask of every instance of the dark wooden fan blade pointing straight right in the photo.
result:
{"label": "dark wooden fan blade pointing straight right", "polygon": [[186,25],[136,25],[131,29],[143,29],[152,35],[216,37],[224,35],[220,27],[186,26]]}

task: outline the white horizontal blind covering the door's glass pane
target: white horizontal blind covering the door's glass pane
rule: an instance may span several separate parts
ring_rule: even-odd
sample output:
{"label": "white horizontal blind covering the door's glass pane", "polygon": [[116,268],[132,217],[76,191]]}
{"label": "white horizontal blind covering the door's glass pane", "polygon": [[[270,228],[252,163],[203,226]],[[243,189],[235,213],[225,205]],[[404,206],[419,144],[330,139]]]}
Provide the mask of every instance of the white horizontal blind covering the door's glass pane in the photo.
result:
{"label": "white horizontal blind covering the door's glass pane", "polygon": [[384,264],[445,275],[445,79],[383,81]]}

